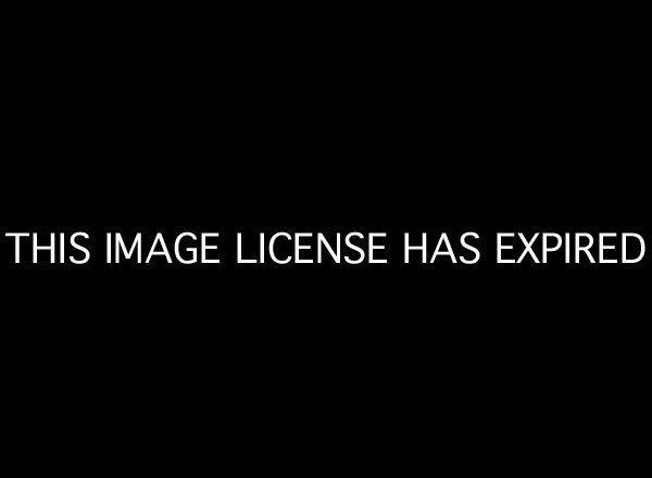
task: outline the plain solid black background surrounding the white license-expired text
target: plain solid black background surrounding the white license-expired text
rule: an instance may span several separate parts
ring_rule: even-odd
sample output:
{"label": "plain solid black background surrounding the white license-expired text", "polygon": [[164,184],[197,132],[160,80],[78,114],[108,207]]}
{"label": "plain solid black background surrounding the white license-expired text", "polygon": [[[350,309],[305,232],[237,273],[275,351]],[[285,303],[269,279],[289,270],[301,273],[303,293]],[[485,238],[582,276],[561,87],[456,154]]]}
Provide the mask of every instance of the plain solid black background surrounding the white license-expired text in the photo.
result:
{"label": "plain solid black background surrounding the white license-expired text", "polygon": [[[268,13],[33,12],[3,60],[2,231],[387,230],[392,264],[5,261],[13,449],[622,466],[645,423],[649,259],[500,267],[492,237],[649,240],[643,32],[586,12]],[[403,231],[465,230],[478,266],[400,265]]]}

